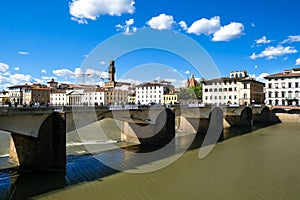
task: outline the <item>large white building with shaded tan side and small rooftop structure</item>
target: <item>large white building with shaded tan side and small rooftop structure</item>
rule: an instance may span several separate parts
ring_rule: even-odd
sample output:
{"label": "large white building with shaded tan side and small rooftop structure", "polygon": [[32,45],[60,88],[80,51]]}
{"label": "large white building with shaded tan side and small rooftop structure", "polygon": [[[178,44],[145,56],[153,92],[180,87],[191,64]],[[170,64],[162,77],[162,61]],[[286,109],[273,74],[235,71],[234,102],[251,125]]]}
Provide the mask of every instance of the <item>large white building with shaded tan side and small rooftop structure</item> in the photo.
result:
{"label": "large white building with shaded tan side and small rooftop structure", "polygon": [[264,103],[264,83],[254,80],[246,71],[230,72],[230,78],[202,81],[204,104],[250,105]]}

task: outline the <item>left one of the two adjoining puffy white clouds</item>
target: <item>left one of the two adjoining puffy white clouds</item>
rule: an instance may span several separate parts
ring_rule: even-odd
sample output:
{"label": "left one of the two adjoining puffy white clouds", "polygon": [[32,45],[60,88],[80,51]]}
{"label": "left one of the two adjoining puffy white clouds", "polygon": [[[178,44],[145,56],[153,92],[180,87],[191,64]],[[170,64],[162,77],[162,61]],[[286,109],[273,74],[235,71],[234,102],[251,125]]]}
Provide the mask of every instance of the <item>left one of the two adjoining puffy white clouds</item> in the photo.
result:
{"label": "left one of the two adjoining puffy white clouds", "polygon": [[217,32],[221,28],[220,17],[212,17],[211,19],[202,18],[195,21],[188,29],[187,33],[194,33],[196,35],[210,35]]}

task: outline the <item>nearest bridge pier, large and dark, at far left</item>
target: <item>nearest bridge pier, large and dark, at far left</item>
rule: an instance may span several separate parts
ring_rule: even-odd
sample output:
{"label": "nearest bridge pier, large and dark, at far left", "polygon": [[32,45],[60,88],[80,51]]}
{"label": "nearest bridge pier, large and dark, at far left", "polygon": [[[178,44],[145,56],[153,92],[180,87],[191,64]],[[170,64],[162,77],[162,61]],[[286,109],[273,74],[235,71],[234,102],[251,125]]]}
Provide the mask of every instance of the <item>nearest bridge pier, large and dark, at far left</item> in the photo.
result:
{"label": "nearest bridge pier, large and dark, at far left", "polygon": [[10,158],[24,170],[66,170],[65,119],[50,114],[41,124],[38,136],[11,132]]}

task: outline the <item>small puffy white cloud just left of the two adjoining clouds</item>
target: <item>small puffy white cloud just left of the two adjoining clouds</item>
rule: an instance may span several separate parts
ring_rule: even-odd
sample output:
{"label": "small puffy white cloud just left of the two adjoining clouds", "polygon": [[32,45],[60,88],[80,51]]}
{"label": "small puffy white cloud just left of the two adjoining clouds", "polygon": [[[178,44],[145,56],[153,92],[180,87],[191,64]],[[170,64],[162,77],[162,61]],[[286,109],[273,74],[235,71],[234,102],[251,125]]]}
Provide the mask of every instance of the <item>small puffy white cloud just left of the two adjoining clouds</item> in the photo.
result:
{"label": "small puffy white cloud just left of the two adjoining clouds", "polygon": [[160,14],[157,17],[152,17],[146,24],[153,29],[170,30],[175,23],[172,15]]}

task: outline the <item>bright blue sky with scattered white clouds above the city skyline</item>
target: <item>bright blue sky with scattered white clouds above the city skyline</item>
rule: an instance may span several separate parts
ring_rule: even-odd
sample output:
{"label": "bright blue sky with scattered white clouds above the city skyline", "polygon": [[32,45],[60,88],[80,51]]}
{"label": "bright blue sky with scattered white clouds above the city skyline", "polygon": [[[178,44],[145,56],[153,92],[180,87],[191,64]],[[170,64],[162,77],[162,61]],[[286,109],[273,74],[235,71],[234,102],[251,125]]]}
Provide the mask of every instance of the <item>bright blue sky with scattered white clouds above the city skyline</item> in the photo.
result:
{"label": "bright blue sky with scattered white clouds above the city skyline", "polygon": [[[176,39],[162,37],[169,44],[161,48],[156,38],[145,36],[143,40],[156,41],[154,48],[120,55],[115,52],[125,43],[108,42],[107,49],[95,53],[116,35],[123,41],[144,30],[184,35],[188,39],[182,49],[195,57],[204,55],[189,45],[195,41],[215,64],[203,61],[198,63],[201,69],[215,67],[223,77],[246,70],[263,81],[268,74],[300,67],[299,7],[296,0],[1,0],[0,89],[45,84],[52,78],[100,84],[107,78],[110,59],[115,60],[119,81],[165,79],[182,86],[192,73],[208,78],[182,54],[168,51],[180,51]],[[136,48],[140,40],[133,40]],[[93,56],[99,59],[84,66]]]}

